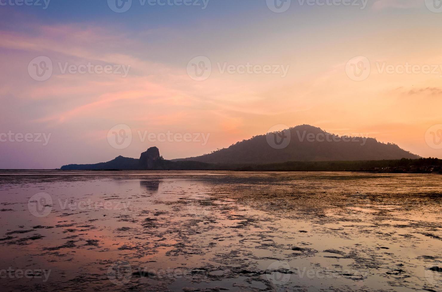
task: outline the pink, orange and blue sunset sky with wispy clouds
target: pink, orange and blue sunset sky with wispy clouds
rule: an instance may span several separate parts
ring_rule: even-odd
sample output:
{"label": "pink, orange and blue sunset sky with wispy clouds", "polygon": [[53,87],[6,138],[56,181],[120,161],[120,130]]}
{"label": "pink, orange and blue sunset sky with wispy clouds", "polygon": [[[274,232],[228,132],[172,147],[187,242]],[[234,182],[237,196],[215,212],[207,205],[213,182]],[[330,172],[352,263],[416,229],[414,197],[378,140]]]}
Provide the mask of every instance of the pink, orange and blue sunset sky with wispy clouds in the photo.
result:
{"label": "pink, orange and blue sunset sky with wispy clouds", "polygon": [[300,124],[442,158],[438,4],[0,0],[0,168],[191,157]]}

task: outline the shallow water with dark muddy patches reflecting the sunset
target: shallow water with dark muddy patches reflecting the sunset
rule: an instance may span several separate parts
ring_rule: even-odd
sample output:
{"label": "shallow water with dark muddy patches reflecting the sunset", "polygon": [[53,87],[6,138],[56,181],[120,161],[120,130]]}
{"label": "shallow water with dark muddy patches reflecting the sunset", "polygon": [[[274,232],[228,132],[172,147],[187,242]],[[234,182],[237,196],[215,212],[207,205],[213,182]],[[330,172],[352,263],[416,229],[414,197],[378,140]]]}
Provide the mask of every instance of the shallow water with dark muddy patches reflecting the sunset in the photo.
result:
{"label": "shallow water with dark muddy patches reflecting the sunset", "polygon": [[5,291],[442,291],[438,175],[1,171],[0,202]]}

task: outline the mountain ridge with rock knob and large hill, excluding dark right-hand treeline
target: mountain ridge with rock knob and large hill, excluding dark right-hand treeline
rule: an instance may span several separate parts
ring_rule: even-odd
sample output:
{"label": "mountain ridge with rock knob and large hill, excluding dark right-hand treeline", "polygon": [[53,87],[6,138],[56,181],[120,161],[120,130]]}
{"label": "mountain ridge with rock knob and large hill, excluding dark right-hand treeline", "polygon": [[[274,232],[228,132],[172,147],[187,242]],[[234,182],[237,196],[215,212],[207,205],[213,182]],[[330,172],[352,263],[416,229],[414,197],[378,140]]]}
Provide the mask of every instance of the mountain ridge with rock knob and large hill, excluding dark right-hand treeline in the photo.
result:
{"label": "mountain ridge with rock knob and large hill, excluding dark right-hand treeline", "polygon": [[374,138],[338,136],[319,127],[299,125],[282,131],[253,136],[228,148],[197,157],[165,160],[157,147],[140,158],[118,156],[96,164],[63,165],[61,169],[238,169],[249,165],[306,161],[379,161],[421,158],[396,144]]}

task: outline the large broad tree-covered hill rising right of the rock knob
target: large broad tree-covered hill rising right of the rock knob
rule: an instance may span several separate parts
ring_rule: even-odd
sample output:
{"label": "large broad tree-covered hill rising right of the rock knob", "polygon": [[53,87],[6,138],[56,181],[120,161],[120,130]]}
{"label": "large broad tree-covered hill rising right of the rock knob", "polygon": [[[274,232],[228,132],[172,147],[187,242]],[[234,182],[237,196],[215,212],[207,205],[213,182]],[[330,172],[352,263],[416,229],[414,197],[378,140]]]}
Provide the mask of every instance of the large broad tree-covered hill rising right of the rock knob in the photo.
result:
{"label": "large broad tree-covered hill rising right of the rock knob", "polygon": [[396,144],[374,138],[338,136],[310,125],[254,136],[228,148],[172,161],[216,164],[271,164],[286,161],[372,161],[417,159]]}

